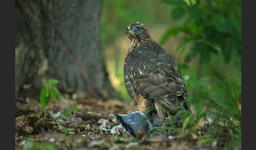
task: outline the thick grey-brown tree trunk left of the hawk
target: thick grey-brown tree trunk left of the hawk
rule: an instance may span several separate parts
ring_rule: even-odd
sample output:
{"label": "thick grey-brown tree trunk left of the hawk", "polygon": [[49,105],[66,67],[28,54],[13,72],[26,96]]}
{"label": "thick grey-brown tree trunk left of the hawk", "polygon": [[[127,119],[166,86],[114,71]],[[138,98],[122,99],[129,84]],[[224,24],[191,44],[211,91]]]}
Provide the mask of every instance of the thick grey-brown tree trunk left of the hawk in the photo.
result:
{"label": "thick grey-brown tree trunk left of the hawk", "polygon": [[30,87],[36,89],[34,96],[38,98],[38,90],[48,79],[58,80],[57,88],[62,92],[83,91],[92,96],[68,46],[97,95],[116,97],[101,49],[102,1],[16,0],[15,11],[16,97],[31,95],[33,92],[26,90]]}

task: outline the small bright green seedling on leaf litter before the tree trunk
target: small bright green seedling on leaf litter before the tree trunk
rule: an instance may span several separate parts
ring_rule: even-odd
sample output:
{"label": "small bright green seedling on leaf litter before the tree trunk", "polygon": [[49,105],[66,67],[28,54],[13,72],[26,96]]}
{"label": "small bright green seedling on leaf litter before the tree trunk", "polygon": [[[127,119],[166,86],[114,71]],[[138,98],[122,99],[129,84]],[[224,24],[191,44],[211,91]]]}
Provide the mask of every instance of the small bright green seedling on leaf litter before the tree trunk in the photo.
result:
{"label": "small bright green seedling on leaf litter before the tree trunk", "polygon": [[51,99],[51,95],[53,95],[54,100],[57,102],[60,99],[60,93],[57,88],[53,87],[53,84],[57,84],[58,81],[54,79],[50,79],[48,84],[44,85],[44,88],[40,93],[40,101],[42,108],[44,109],[44,118],[46,117],[46,106]]}

